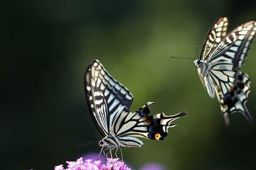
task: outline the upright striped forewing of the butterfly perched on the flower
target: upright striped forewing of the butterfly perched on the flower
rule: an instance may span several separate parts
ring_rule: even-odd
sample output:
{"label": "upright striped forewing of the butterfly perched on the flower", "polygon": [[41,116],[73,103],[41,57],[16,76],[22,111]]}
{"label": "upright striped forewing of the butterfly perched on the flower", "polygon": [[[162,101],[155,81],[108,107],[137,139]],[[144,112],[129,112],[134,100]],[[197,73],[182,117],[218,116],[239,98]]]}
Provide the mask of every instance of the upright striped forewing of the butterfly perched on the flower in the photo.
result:
{"label": "upright striped forewing of the butterfly perched on the flower", "polygon": [[95,59],[85,71],[85,96],[94,124],[102,136],[109,135],[115,117],[124,108],[130,108],[133,95],[109,75]]}

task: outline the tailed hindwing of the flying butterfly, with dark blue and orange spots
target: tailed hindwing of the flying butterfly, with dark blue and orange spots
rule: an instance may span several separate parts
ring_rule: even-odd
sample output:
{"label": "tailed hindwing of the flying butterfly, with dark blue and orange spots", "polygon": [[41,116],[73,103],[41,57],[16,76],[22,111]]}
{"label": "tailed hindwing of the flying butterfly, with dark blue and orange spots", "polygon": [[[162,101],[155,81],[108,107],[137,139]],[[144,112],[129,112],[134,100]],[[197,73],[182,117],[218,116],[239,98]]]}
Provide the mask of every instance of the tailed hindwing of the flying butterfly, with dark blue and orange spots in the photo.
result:
{"label": "tailed hindwing of the flying butterfly, with dark blue and orange spots", "polygon": [[[224,65],[217,67],[224,68]],[[227,113],[240,112],[248,121],[253,121],[245,105],[250,92],[249,76],[246,73],[228,69],[212,69],[210,70],[210,76],[214,80],[214,84],[216,84],[214,87],[218,94],[221,113],[225,115]]]}

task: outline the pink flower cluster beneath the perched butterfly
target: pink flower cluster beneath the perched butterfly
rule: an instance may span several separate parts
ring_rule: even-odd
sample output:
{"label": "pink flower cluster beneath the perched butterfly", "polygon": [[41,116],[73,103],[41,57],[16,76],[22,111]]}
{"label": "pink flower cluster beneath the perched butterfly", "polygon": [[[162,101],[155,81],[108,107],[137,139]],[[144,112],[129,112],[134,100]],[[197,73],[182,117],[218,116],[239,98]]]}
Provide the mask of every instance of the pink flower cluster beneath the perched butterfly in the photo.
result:
{"label": "pink flower cluster beneath the perched butterfly", "polygon": [[106,165],[101,165],[100,160],[92,162],[91,159],[82,160],[82,158],[77,159],[76,162],[67,161],[67,164],[67,169],[63,168],[63,165],[58,165],[55,170],[131,170],[117,158],[108,158]]}

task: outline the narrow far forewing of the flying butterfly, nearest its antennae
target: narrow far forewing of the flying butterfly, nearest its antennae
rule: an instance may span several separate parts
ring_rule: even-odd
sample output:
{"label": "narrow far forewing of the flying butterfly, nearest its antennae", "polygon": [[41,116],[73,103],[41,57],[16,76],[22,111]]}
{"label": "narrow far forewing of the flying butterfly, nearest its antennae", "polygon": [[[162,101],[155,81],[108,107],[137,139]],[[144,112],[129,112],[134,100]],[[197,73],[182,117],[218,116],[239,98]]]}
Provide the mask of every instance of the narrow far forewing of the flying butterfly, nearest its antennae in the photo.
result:
{"label": "narrow far forewing of the flying butterfly, nearest its antennae", "polygon": [[228,18],[220,17],[216,19],[210,27],[204,40],[203,50],[201,51],[200,60],[206,61],[212,49],[226,36],[228,27]]}

